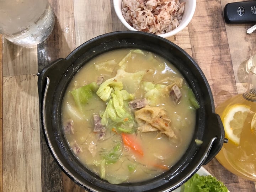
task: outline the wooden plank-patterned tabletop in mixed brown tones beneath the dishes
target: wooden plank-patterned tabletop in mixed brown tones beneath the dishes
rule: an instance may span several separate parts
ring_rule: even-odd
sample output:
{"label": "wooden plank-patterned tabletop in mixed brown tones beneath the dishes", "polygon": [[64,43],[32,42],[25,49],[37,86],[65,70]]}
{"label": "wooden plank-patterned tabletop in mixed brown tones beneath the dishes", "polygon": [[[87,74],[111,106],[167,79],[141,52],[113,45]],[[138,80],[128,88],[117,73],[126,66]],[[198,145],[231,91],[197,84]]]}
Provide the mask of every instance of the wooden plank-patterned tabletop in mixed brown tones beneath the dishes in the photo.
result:
{"label": "wooden plank-patterned tabletop in mixed brown tones beneath the dishes", "polygon": [[[190,24],[168,38],[190,54],[206,75],[215,105],[246,89],[245,62],[256,53],[252,24],[226,25],[223,7],[231,0],[198,0]],[[55,13],[53,33],[34,48],[0,38],[0,191],[84,191],[59,169],[39,129],[37,72],[66,57],[85,41],[126,30],[112,0],[50,0]],[[0,36],[1,37],[1,36]],[[231,192],[255,192],[255,183],[225,170],[216,159],[204,166]]]}

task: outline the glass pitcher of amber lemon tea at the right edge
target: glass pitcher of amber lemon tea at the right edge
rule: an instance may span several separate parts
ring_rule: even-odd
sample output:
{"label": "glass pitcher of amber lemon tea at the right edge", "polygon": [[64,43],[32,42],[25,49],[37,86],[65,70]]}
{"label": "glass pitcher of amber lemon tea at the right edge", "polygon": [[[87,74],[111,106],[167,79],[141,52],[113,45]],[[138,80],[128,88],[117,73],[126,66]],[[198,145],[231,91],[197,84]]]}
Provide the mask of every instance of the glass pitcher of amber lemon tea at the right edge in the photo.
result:
{"label": "glass pitcher of amber lemon tea at the right edge", "polygon": [[256,181],[256,66],[250,69],[247,91],[217,106],[216,113],[229,139],[217,160],[235,175]]}

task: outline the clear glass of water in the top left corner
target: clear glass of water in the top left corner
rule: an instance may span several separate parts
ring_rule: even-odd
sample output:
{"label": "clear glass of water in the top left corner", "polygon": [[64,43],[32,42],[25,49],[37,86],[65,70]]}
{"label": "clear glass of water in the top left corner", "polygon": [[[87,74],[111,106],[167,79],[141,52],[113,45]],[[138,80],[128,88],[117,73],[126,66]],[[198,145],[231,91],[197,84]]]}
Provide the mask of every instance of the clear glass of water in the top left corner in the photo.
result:
{"label": "clear glass of water in the top left corner", "polygon": [[49,36],[53,26],[48,0],[0,0],[0,33],[14,44],[35,46]]}

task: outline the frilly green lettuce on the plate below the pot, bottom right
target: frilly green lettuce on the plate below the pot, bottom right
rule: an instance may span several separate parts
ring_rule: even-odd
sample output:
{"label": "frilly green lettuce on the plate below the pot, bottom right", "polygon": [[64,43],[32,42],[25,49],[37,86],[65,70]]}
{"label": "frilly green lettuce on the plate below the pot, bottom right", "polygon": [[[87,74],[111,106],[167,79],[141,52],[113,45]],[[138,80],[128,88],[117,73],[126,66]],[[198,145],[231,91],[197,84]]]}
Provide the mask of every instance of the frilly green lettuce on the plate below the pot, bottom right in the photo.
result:
{"label": "frilly green lettuce on the plate below the pot, bottom right", "polygon": [[194,174],[182,187],[182,192],[228,192],[223,182],[212,175],[201,176]]}

